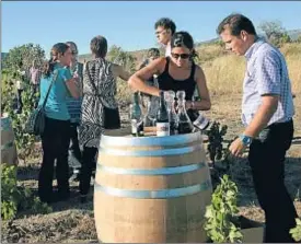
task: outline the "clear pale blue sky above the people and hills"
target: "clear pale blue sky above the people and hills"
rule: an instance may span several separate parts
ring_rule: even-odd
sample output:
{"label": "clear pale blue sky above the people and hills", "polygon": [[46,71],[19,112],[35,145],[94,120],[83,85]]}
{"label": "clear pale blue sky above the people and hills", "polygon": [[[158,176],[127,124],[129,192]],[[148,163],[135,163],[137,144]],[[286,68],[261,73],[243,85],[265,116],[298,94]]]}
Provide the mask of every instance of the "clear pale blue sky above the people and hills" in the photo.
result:
{"label": "clear pale blue sky above the people and hills", "polygon": [[162,16],[202,42],[217,37],[217,25],[233,12],[255,26],[278,20],[287,30],[301,28],[300,1],[2,1],[1,51],[34,43],[48,54],[54,44],[72,40],[89,54],[96,35],[124,50],[155,47],[154,23]]}

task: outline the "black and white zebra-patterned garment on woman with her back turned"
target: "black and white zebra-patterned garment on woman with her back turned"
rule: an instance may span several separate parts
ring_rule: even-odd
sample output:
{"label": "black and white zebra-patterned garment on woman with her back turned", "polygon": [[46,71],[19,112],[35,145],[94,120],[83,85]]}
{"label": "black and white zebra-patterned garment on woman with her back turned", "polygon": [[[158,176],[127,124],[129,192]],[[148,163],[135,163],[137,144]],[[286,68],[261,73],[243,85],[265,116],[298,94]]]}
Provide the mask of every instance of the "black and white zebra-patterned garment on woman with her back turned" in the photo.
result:
{"label": "black and white zebra-patterned garment on woman with her back turned", "polygon": [[101,135],[104,130],[103,106],[117,108],[115,93],[116,80],[112,72],[112,62],[103,58],[86,62],[83,72],[83,101],[79,127],[79,142],[81,146],[99,148]]}

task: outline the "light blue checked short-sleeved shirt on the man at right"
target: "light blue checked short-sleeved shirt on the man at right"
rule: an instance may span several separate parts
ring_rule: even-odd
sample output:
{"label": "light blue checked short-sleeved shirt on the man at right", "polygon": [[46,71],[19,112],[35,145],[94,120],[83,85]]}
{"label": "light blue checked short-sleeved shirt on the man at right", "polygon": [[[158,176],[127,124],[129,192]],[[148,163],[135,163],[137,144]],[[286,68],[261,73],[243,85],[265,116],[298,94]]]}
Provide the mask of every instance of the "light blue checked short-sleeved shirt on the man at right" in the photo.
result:
{"label": "light blue checked short-sleeved shirt on the man at right", "polygon": [[278,107],[268,126],[288,121],[294,115],[291,82],[282,54],[258,39],[245,53],[246,72],[243,82],[242,121],[247,126],[262,104],[262,95],[279,95]]}

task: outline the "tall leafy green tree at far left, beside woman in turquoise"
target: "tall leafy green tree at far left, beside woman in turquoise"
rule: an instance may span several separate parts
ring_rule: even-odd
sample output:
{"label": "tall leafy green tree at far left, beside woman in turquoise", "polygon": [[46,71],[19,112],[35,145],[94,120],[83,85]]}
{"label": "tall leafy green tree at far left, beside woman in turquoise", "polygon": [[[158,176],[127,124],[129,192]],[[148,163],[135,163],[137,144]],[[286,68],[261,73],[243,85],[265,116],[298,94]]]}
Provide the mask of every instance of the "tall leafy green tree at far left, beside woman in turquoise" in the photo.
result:
{"label": "tall leafy green tree at far left, beside woman in turquoise", "polygon": [[28,77],[22,78],[24,82],[24,91],[22,92],[23,108],[21,114],[14,112],[14,82],[16,79],[21,79],[16,70],[28,71],[33,60],[36,60],[36,63],[40,66],[44,59],[45,51],[39,45],[25,44],[12,48],[3,60],[5,70],[2,70],[3,80],[1,80],[1,92],[2,97],[5,98],[1,101],[1,108],[9,114],[12,121],[18,155],[24,160],[24,163],[27,158],[32,155],[36,139],[33,135],[24,132],[24,126],[35,107],[38,94],[33,94],[30,88]]}

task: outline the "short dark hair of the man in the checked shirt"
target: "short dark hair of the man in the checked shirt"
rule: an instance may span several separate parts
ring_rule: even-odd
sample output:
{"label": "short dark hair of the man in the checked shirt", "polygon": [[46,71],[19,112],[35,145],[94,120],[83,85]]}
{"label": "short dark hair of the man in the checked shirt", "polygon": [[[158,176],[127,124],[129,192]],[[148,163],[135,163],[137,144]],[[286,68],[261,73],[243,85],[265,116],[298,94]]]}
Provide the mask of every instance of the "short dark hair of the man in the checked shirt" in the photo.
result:
{"label": "short dark hair of the man in the checked shirt", "polygon": [[233,13],[223,19],[217,28],[217,33],[220,35],[225,28],[229,28],[233,36],[239,36],[241,31],[245,31],[251,35],[256,35],[252,21],[240,13]]}

